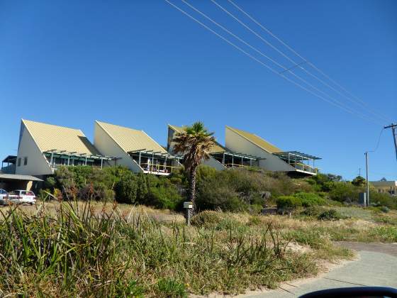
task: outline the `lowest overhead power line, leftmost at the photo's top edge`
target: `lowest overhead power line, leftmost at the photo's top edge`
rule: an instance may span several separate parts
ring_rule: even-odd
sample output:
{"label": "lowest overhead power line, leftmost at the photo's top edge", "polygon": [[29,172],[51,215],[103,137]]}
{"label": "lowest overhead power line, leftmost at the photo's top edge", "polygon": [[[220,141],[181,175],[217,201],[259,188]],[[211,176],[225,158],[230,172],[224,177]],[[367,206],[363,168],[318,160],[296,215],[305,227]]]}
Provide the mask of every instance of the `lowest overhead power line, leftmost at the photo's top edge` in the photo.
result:
{"label": "lowest overhead power line, leftmost at the photo's top edge", "polygon": [[[186,11],[184,11],[183,9],[179,8],[179,6],[173,4],[172,2],[168,1],[168,0],[164,0],[167,2],[167,4],[169,4],[170,6],[173,6],[174,9],[177,9],[178,11],[180,11],[181,13],[184,13],[184,15],[188,16],[189,18],[191,18],[192,20],[196,21],[196,23],[200,24],[201,26],[203,26],[204,28],[206,28],[208,31],[210,31],[211,33],[215,34],[216,36],[218,36],[218,38],[221,38],[222,40],[224,40],[226,43],[232,45],[234,48],[236,48],[237,50],[239,50],[240,52],[244,53],[245,55],[247,55],[247,57],[250,57],[252,60],[255,60],[256,62],[258,62],[259,64],[261,64],[264,67],[267,67],[268,70],[274,72],[276,75],[279,75],[280,77],[286,79],[286,81],[291,82],[292,84],[295,84],[297,87],[305,90],[306,92],[309,92],[310,94],[313,94],[314,96],[317,96],[320,99],[323,99],[323,101],[328,102],[329,104],[332,104],[334,106],[339,107],[340,109],[343,109],[345,111],[347,111],[350,114],[354,114],[353,111],[350,111],[349,108],[346,108],[345,106],[342,106],[340,104],[335,103],[334,101],[330,101],[328,99],[325,99],[325,97],[320,96],[318,94],[316,94],[315,92],[311,91],[310,89],[307,89],[306,87],[303,87],[301,84],[298,84],[297,82],[293,81],[292,79],[289,79],[288,77],[282,75],[281,73],[277,72],[276,70],[274,70],[272,67],[269,67],[269,65],[266,65],[264,62],[262,62],[261,60],[258,60],[256,57],[250,55],[250,53],[247,53],[245,50],[242,50],[242,48],[240,48],[239,46],[235,45],[234,43],[232,43],[230,40],[228,40],[227,38],[223,37],[223,35],[220,35],[219,33],[217,33],[216,31],[213,31],[211,28],[209,28],[208,26],[206,26],[204,23],[202,23],[201,21],[198,21],[198,19],[194,18],[194,16],[191,16],[189,13],[187,13]],[[364,118],[362,115],[357,114],[357,116],[363,118],[364,120],[367,121],[371,121],[374,122],[373,120],[371,120],[370,118]],[[374,122],[376,123],[376,122]],[[378,123],[376,123],[378,124]]]}

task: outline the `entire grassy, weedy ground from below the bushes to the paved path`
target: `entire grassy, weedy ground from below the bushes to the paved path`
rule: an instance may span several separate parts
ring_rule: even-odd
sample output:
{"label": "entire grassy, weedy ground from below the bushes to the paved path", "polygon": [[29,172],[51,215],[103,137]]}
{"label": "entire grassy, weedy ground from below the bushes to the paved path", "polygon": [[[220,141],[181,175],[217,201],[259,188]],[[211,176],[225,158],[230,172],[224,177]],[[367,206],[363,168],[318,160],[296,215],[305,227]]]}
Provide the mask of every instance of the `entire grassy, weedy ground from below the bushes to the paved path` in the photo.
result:
{"label": "entire grassy, weedy ground from below the bushes to the paved path", "polygon": [[[321,206],[320,212],[332,208]],[[203,211],[186,227],[181,214],[130,204],[6,206],[0,295],[235,294],[312,276],[324,260],[354,256],[332,241],[397,241],[396,211],[339,208],[341,214],[353,211],[339,220],[302,211],[291,217]]]}

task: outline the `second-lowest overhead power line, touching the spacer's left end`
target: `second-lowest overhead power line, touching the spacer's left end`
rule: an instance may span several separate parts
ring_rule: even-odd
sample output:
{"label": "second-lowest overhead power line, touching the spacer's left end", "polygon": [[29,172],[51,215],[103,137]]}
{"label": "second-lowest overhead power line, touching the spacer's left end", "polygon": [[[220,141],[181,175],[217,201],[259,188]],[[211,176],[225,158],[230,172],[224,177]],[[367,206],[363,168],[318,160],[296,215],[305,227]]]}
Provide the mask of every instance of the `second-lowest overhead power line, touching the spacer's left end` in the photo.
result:
{"label": "second-lowest overhead power line, touching the spacer's left end", "polygon": [[[245,40],[243,40],[242,38],[240,38],[239,36],[235,35],[233,32],[229,31],[227,28],[225,28],[224,26],[220,25],[220,23],[214,21],[212,18],[210,18],[209,16],[207,16],[205,13],[203,13],[202,11],[196,9],[195,6],[189,4],[187,1],[185,0],[181,0],[184,4],[186,4],[187,6],[189,6],[191,9],[193,9],[194,11],[196,11],[197,13],[199,13],[201,16],[203,16],[204,18],[208,19],[209,21],[211,21],[212,23],[214,23],[216,26],[218,26],[219,28],[221,28],[223,31],[225,31],[226,33],[232,35],[234,38],[236,38],[237,40],[239,40],[241,43],[244,43],[245,45],[247,45],[249,48],[251,48],[252,50],[255,50],[255,52],[259,53],[259,55],[262,55],[263,57],[266,57],[268,60],[272,61],[275,65],[281,67],[282,69],[284,69],[283,72],[279,72],[279,74],[282,74],[284,72],[289,72],[291,75],[293,75],[293,77],[296,77],[297,79],[301,80],[302,82],[304,82],[305,84],[307,84],[308,86],[310,86],[311,88],[315,89],[317,92],[320,92],[321,94],[327,96],[329,99],[331,99],[332,101],[335,101],[337,104],[339,104],[340,106],[345,106],[346,109],[349,109],[350,112],[352,114],[357,114],[358,116],[361,117],[368,117],[366,114],[362,114],[358,111],[354,111],[354,109],[350,109],[350,107],[346,106],[344,103],[338,101],[337,99],[333,98],[332,96],[330,96],[329,94],[326,94],[325,92],[323,92],[322,90],[316,88],[315,86],[313,86],[313,84],[310,84],[308,81],[306,81],[306,79],[303,79],[302,77],[296,75],[294,72],[291,71],[290,67],[289,69],[287,69],[287,67],[285,67],[284,65],[281,65],[279,62],[276,62],[274,59],[272,59],[271,57],[265,55],[264,53],[262,53],[262,51],[258,50],[257,48],[255,48],[254,46],[250,45],[250,43],[247,43]],[[298,65],[296,65],[298,66]],[[369,118],[371,121],[371,118]],[[375,123],[375,122],[374,122]]]}

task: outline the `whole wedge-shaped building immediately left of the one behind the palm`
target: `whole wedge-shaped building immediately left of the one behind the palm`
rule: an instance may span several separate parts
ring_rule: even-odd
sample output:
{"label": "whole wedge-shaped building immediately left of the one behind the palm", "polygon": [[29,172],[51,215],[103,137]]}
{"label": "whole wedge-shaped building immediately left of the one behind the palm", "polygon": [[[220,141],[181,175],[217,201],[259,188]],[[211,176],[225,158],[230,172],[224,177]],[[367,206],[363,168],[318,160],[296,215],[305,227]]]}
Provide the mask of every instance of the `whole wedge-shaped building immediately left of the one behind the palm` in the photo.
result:
{"label": "whole wedge-shaped building immediately left of the one behind the palm", "polygon": [[145,131],[95,121],[94,145],[133,172],[169,175],[180,167],[181,156],[169,154]]}

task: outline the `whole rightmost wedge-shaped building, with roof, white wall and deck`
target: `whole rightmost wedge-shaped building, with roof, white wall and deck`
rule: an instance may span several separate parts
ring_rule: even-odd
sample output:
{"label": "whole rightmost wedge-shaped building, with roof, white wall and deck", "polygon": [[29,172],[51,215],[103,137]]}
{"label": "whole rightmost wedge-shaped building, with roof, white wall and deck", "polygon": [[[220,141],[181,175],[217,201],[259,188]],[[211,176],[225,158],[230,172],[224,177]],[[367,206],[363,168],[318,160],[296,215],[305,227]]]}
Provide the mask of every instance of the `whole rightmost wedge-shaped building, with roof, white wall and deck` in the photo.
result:
{"label": "whole rightmost wedge-shaped building, with roof, white wall and deck", "polygon": [[283,151],[254,133],[226,126],[225,146],[235,152],[258,157],[258,166],[273,172],[316,175],[320,158],[298,151]]}

